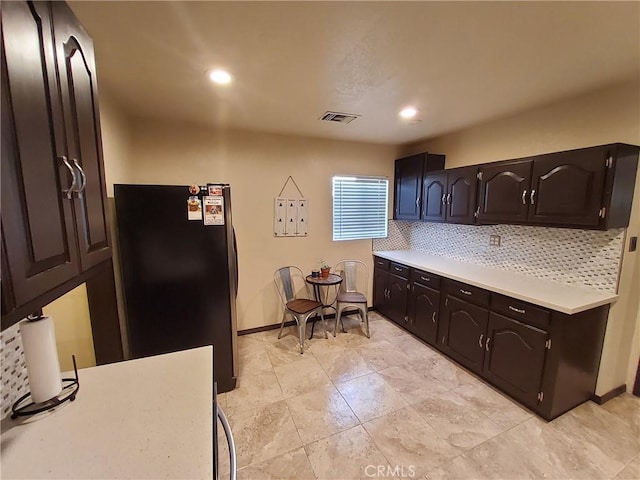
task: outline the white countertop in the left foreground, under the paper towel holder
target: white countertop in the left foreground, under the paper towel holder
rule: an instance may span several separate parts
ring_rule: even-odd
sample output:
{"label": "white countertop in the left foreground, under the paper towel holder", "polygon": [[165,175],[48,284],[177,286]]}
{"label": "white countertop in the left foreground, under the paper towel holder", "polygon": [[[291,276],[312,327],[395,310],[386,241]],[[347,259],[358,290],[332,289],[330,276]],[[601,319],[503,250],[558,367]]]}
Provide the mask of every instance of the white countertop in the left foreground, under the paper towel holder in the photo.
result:
{"label": "white countertop in the left foreground, under the paper towel holder", "polygon": [[2,421],[2,478],[211,478],[212,356],[209,346],[79,370],[74,402]]}

